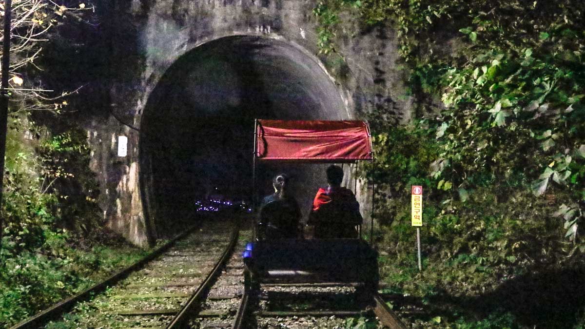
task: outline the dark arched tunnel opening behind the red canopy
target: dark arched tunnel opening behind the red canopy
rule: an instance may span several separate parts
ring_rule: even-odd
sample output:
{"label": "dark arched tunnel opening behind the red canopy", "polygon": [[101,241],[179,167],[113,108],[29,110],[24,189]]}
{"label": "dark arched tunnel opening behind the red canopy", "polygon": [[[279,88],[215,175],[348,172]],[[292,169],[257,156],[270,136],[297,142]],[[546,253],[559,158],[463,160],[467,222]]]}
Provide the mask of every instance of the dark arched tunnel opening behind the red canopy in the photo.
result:
{"label": "dark arched tunnel opening behind the red canopy", "polygon": [[[281,40],[223,37],[166,71],[140,129],[144,210],[157,231],[192,218],[196,200],[252,199],[254,118],[341,120],[349,114],[315,57]],[[257,193],[271,194],[271,177],[289,173],[306,215],[317,187],[326,185],[325,167],[260,165]]]}

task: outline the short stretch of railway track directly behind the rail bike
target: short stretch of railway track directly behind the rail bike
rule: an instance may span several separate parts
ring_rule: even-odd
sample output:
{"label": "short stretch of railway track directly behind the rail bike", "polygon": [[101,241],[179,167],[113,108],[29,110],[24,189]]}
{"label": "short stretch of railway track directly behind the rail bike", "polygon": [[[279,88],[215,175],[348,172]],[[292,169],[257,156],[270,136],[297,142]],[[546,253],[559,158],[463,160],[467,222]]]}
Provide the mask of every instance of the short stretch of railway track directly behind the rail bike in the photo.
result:
{"label": "short stretch of railway track directly behind the rail bike", "polygon": [[233,328],[347,328],[364,321],[406,328],[380,296],[361,287],[335,282],[247,286]]}

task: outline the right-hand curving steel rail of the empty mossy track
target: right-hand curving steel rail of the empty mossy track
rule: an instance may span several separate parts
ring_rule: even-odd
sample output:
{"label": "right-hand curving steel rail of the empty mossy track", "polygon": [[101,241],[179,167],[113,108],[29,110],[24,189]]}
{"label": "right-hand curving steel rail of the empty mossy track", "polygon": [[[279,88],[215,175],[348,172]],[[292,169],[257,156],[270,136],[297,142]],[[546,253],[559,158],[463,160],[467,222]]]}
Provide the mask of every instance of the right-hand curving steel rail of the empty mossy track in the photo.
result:
{"label": "right-hand curving steel rail of the empty mossy track", "polygon": [[181,309],[176,314],[176,316],[173,318],[173,321],[171,321],[171,323],[167,326],[167,329],[185,327],[185,324],[189,319],[189,316],[191,315],[190,312],[192,311],[192,309],[194,309],[195,306],[197,306],[202,300],[204,300],[205,294],[209,292],[209,288],[211,288],[211,286],[213,286],[215,283],[215,277],[218,276],[219,273],[221,273],[223,265],[225,265],[225,263],[230,258],[233,248],[236,245],[236,242],[238,242],[239,227],[240,223],[238,222],[238,224],[236,224],[236,227],[232,232],[230,242],[228,246],[225,248],[225,251],[223,251],[221,258],[215,263],[214,268],[211,270],[211,272],[209,272],[207,277],[205,277],[203,283],[201,283],[197,290],[195,290],[195,292],[191,295],[183,309]]}

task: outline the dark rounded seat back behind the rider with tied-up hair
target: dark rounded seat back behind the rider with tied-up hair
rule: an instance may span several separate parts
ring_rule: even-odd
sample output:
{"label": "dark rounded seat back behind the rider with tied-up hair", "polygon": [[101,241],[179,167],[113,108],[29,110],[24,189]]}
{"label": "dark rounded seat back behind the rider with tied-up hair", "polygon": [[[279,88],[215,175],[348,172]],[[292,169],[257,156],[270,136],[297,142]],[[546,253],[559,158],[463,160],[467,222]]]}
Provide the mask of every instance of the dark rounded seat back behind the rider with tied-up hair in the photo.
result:
{"label": "dark rounded seat back behind the rider with tied-up hair", "polygon": [[259,239],[294,239],[298,237],[298,217],[290,203],[270,201],[260,210]]}

